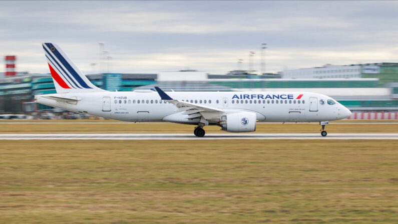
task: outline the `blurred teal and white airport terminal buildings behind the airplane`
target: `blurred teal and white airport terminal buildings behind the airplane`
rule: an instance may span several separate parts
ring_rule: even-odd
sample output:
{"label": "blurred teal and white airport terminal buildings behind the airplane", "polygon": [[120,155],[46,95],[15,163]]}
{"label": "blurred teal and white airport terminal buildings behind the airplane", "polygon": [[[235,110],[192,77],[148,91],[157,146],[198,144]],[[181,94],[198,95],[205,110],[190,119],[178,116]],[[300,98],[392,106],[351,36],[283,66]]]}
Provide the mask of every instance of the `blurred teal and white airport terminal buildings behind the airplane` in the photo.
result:
{"label": "blurred teal and white airport terminal buildings behind the airplane", "polygon": [[[15,61],[16,56],[6,56],[6,72],[0,73],[0,114],[33,114],[35,117],[43,112],[66,114],[33,102],[35,95],[56,93],[51,75],[16,72]],[[336,99],[352,112],[398,112],[398,63],[325,65],[262,75],[244,70],[228,74],[182,70],[158,74],[88,74],[87,77],[108,91],[159,86],[165,91],[316,92]]]}

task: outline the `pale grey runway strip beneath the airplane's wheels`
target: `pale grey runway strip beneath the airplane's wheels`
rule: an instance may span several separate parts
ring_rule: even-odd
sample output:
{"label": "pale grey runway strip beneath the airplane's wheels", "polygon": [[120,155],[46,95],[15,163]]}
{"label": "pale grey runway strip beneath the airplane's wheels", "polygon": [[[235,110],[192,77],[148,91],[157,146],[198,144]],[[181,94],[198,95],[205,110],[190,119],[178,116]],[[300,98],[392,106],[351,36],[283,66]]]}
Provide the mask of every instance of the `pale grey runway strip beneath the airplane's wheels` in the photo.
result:
{"label": "pale grey runway strip beneath the airplane's wheels", "polygon": [[0,140],[206,140],[206,139],[393,139],[398,133],[208,133],[199,138],[191,133],[141,134],[0,134]]}

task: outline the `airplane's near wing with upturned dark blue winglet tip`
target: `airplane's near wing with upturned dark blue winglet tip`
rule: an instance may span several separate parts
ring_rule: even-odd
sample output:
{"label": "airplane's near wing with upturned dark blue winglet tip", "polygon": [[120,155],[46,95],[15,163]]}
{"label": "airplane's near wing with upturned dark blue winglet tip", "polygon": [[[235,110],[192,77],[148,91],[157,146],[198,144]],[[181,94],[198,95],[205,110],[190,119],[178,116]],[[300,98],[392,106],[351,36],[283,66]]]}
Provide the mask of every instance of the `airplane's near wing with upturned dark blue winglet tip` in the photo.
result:
{"label": "airplane's near wing with upturned dark blue winglet tip", "polygon": [[161,90],[159,87],[155,87],[155,89],[156,91],[158,91],[158,94],[162,100],[174,104],[178,108],[177,109],[178,112],[184,111],[182,114],[187,114],[188,119],[199,118],[202,116],[204,116],[205,119],[207,119],[210,118],[208,114],[224,112],[224,110],[214,107],[207,107],[185,101],[175,100],[171,98],[169,95],[167,95],[165,92],[163,92],[163,90]]}

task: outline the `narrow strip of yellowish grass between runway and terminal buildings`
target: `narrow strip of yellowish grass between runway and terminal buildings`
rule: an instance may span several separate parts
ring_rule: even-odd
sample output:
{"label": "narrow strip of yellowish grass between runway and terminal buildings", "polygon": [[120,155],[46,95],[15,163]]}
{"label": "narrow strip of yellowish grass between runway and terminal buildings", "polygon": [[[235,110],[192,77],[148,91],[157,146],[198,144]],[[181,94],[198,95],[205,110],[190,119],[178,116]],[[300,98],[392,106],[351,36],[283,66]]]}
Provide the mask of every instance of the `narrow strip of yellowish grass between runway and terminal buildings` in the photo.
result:
{"label": "narrow strip of yellowish grass between runway and terminal buildings", "polygon": [[[86,122],[88,120],[85,120]],[[128,123],[115,121],[15,121],[0,122],[0,133],[193,133],[194,125],[159,123]],[[83,121],[84,122],[84,121]],[[385,124],[332,122],[326,126],[328,133],[396,133],[398,121]],[[363,121],[362,121],[363,122]],[[206,133],[225,133],[218,126],[206,126]],[[255,133],[318,133],[317,123],[258,123]]]}

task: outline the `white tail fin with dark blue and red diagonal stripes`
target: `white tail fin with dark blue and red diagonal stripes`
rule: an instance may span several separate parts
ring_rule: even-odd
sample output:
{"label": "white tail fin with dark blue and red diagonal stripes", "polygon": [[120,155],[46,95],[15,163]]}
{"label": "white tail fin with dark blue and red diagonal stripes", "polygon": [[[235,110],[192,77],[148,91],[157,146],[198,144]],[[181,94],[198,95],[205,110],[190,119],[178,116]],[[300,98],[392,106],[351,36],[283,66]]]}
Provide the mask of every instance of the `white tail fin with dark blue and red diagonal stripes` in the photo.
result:
{"label": "white tail fin with dark blue and red diagonal stripes", "polygon": [[43,49],[57,93],[105,91],[92,84],[58,45],[43,43]]}

